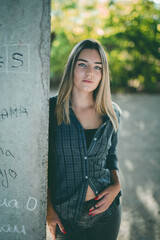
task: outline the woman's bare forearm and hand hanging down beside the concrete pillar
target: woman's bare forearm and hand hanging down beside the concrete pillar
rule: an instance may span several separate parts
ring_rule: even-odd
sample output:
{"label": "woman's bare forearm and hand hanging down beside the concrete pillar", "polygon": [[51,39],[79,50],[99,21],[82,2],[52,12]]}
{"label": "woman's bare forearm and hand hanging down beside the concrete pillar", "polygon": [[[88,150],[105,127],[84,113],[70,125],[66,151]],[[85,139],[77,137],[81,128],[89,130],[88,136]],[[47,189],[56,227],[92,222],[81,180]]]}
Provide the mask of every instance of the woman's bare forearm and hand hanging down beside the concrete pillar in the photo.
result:
{"label": "woman's bare forearm and hand hanging down beside the concrete pillar", "polygon": [[59,219],[56,211],[52,207],[51,198],[50,198],[50,190],[48,189],[48,200],[47,200],[47,224],[49,227],[49,231],[52,234],[52,238],[55,240],[56,237],[56,226],[58,224],[60,230],[65,234],[66,231]]}

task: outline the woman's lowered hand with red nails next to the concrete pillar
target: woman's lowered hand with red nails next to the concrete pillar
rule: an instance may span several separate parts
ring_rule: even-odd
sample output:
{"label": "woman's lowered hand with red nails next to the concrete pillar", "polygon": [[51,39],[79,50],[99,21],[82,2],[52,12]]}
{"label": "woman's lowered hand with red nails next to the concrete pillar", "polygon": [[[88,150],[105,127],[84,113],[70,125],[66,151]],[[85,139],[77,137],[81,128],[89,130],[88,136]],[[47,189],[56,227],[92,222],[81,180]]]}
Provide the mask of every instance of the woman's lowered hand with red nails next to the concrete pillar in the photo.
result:
{"label": "woman's lowered hand with red nails next to the concrete pillar", "polygon": [[58,224],[60,230],[65,234],[66,231],[64,230],[64,227],[61,223],[61,220],[58,217],[58,214],[56,211],[52,208],[50,209],[49,213],[47,214],[47,224],[49,227],[49,231],[52,234],[52,238],[55,240],[56,237],[56,226]]}

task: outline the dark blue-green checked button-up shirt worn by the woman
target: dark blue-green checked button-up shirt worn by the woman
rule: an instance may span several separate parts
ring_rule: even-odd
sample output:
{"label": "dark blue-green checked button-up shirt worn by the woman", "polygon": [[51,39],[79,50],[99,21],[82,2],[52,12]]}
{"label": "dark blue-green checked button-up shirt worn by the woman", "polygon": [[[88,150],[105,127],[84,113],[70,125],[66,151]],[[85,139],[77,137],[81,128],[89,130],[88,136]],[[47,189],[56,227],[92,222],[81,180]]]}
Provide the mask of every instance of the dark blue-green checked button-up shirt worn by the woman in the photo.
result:
{"label": "dark blue-green checked button-up shirt worn by the woman", "polygon": [[[85,201],[88,185],[98,195],[111,184],[110,171],[118,170],[115,132],[110,118],[96,130],[87,149],[84,129],[70,107],[70,124],[57,125],[57,97],[50,99],[49,179],[53,208],[67,232],[74,231]],[[115,107],[120,119],[120,113]]]}

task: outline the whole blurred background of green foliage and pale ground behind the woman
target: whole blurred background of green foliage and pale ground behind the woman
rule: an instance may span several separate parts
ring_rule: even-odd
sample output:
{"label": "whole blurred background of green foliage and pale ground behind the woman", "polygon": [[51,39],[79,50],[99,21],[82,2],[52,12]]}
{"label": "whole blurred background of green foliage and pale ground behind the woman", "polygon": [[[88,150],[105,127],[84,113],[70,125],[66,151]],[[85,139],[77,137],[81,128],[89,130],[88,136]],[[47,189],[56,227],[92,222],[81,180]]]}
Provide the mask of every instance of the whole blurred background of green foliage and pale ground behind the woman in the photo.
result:
{"label": "whole blurred background of green foliage and pale ground behind the woman", "polygon": [[105,49],[112,99],[123,112],[118,239],[160,240],[160,0],[52,1],[50,96],[73,46],[86,38]]}

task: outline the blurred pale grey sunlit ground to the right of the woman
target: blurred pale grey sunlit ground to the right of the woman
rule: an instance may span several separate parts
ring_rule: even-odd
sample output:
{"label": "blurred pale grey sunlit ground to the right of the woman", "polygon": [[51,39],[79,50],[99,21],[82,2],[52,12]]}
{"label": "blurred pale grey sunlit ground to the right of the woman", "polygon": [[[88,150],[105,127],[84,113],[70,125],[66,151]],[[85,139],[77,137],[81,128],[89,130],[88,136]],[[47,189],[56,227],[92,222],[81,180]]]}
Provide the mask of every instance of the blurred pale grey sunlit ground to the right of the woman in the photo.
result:
{"label": "blurred pale grey sunlit ground to the right of the woman", "polygon": [[113,100],[123,111],[118,144],[123,213],[118,240],[160,240],[160,95],[113,95]]}

